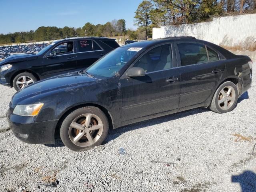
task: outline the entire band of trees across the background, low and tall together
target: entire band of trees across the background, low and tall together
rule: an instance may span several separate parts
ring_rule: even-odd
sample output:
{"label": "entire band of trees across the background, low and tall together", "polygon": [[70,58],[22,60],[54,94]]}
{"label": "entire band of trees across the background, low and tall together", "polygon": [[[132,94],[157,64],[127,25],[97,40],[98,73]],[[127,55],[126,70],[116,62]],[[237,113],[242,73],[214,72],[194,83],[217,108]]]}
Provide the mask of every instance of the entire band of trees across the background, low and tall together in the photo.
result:
{"label": "entire band of trees across the background, low and tall together", "polygon": [[64,28],[41,26],[29,32],[0,34],[0,44],[56,40],[76,36],[124,36],[131,40],[152,37],[152,28],[166,25],[206,22],[213,17],[256,13],[256,0],[143,0],[135,11],[137,30],[126,29],[124,19],[106,24]]}

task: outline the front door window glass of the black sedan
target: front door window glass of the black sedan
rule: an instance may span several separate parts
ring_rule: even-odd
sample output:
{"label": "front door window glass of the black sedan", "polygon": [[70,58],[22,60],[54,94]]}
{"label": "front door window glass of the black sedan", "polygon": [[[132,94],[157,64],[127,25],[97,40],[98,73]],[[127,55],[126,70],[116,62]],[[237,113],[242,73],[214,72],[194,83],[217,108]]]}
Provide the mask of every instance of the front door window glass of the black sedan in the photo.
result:
{"label": "front door window glass of the black sedan", "polygon": [[141,67],[146,73],[172,68],[171,45],[166,44],[149,50],[135,64],[134,67]]}

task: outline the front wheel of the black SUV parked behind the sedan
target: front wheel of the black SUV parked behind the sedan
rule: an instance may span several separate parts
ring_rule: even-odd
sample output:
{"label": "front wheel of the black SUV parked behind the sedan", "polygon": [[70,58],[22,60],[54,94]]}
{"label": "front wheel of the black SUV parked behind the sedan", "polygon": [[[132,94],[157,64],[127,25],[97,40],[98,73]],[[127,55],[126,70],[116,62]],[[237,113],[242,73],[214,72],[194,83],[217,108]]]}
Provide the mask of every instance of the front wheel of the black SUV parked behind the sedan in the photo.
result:
{"label": "front wheel of the black SUV parked behind the sedan", "polygon": [[15,90],[18,91],[36,81],[37,79],[33,74],[24,72],[16,75],[13,79],[12,84]]}

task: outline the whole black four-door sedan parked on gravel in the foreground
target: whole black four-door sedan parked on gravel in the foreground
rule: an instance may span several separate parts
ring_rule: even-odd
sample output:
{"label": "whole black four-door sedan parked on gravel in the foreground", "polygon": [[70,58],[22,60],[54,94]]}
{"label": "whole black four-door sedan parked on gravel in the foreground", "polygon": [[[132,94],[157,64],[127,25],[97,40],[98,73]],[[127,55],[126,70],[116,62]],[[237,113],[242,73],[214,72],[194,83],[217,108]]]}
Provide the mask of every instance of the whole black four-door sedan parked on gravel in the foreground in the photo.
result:
{"label": "whole black four-door sedan parked on gravel in the foreground", "polygon": [[215,44],[179,37],[116,48],[86,70],[20,90],[7,119],[23,142],[71,150],[102,144],[109,128],[184,110],[234,109],[252,83],[252,61]]}

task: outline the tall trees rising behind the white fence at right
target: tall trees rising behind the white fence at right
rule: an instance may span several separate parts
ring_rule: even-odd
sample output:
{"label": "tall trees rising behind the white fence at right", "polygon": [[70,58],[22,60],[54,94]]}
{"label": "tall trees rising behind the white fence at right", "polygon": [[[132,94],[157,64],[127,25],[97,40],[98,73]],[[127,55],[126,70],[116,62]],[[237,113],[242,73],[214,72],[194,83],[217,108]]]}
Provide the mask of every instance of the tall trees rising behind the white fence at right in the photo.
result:
{"label": "tall trees rising behind the white fence at right", "polygon": [[144,0],[135,12],[135,24],[144,39],[152,28],[206,22],[213,17],[256,13],[256,0]]}

